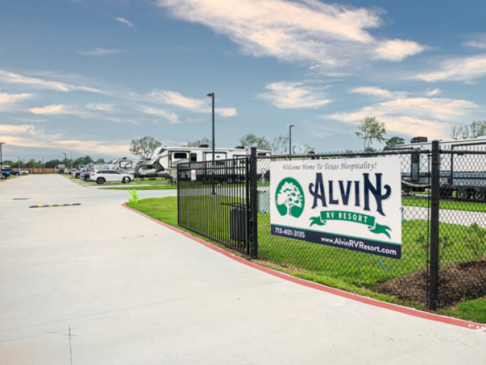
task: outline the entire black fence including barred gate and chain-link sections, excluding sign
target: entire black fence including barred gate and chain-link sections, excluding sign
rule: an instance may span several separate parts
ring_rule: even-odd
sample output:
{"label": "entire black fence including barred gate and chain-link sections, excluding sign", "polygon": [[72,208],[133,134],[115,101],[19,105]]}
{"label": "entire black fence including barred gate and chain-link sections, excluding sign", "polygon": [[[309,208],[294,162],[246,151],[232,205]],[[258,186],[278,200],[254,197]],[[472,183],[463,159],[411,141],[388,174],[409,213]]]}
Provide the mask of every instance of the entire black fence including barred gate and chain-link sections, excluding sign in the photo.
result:
{"label": "entire black fence including barred gate and chain-link sections, excluding sign", "polygon": [[[272,161],[326,163],[392,155],[398,156],[401,170],[400,259],[271,234]],[[179,224],[251,257],[295,269],[302,278],[353,285],[432,310],[486,295],[484,151],[440,150],[434,142],[430,150],[257,158],[252,149],[249,158],[217,163],[214,168],[208,163],[178,166]]]}

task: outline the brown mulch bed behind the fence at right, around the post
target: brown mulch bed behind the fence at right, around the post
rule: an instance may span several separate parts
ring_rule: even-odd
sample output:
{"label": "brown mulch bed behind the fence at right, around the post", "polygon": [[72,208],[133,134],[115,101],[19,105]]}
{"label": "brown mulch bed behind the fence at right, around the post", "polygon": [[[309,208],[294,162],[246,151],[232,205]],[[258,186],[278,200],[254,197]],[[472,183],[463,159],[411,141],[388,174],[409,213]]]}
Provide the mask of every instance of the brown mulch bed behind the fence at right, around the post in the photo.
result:
{"label": "brown mulch bed behind the fence at right, around the post", "polygon": [[[407,302],[427,305],[427,271],[420,270],[380,284],[377,292],[393,295]],[[467,298],[486,295],[486,260],[447,264],[439,268],[438,300],[440,307],[450,307]]]}

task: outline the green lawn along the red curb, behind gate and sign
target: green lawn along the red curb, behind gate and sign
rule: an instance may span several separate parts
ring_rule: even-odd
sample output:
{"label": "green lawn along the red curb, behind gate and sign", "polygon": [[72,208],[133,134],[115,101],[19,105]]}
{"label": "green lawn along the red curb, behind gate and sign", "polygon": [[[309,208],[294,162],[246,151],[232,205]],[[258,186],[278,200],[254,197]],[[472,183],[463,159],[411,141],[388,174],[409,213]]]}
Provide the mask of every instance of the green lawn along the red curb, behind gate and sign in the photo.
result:
{"label": "green lawn along the red curb, behind gate and sign", "polygon": [[[222,203],[237,202],[237,199],[225,196],[216,198],[187,196],[181,199],[182,204],[188,204],[188,206],[192,207],[195,206],[196,201],[199,206],[205,206],[206,208],[188,210],[190,213],[185,217],[187,225],[192,225],[202,232],[206,231],[212,237],[229,237],[229,212],[233,208],[228,205],[222,205]],[[177,224],[177,197],[143,199],[137,204],[127,203],[127,206],[194,234],[192,231]],[[212,209],[210,206],[212,206]],[[214,215],[214,212],[218,212],[215,219],[212,219],[216,223],[209,226],[208,220],[201,219],[201,217],[207,218]],[[475,258],[473,250],[470,249],[463,239],[468,234],[469,227],[440,223],[441,242],[448,242],[439,253],[441,265]],[[194,235],[201,237],[197,234]],[[259,214],[258,237],[258,262],[260,264],[303,279],[387,302],[399,302],[399,300],[377,293],[373,288],[397,276],[424,269],[428,259],[428,222],[419,219],[406,220],[403,223],[402,258],[399,260],[273,236],[270,234],[269,214]],[[203,238],[208,240],[208,238]],[[222,245],[219,246],[221,247]],[[469,302],[471,301],[464,303]],[[417,303],[399,303],[421,308]],[[452,312],[448,313],[448,315],[460,316]],[[485,320],[477,317],[468,319],[486,323]]]}

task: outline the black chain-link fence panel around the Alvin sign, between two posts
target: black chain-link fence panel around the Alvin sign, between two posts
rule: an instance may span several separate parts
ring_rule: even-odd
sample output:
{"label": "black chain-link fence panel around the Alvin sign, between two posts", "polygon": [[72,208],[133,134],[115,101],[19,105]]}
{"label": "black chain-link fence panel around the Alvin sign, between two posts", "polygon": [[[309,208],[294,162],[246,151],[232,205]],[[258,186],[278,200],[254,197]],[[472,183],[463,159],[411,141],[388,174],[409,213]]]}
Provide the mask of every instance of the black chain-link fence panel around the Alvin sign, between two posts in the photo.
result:
{"label": "black chain-link fence panel around the Alvin sign, between two posts", "polygon": [[[370,255],[345,248],[274,236],[270,229],[270,164],[282,160],[320,160],[399,157],[402,179],[402,258]],[[420,151],[379,153],[329,153],[320,155],[286,155],[258,159],[258,254],[259,258],[301,272],[301,276],[325,284],[366,288],[396,295],[403,291],[400,278],[420,272],[426,279],[418,292],[409,293],[407,301],[428,303],[429,220],[430,220],[430,153]],[[413,172],[412,172],[413,171]],[[414,174],[414,176],[412,176]],[[268,179],[265,178],[268,177]],[[278,183],[278,182],[274,182]],[[350,233],[352,235],[352,233]]]}

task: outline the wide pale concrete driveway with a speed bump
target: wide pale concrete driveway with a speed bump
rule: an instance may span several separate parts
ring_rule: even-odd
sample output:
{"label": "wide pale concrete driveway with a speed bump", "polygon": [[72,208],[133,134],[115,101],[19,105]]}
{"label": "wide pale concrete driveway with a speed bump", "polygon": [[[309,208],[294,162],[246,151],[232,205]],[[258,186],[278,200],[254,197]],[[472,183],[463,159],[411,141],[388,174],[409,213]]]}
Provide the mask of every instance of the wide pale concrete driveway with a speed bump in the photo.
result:
{"label": "wide pale concrete driveway with a speed bump", "polygon": [[[486,362],[484,331],[255,270],[129,197],[58,175],[0,184],[0,364]],[[59,203],[81,205],[29,208]]]}

